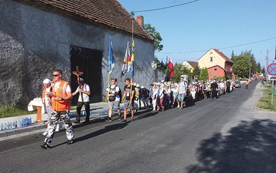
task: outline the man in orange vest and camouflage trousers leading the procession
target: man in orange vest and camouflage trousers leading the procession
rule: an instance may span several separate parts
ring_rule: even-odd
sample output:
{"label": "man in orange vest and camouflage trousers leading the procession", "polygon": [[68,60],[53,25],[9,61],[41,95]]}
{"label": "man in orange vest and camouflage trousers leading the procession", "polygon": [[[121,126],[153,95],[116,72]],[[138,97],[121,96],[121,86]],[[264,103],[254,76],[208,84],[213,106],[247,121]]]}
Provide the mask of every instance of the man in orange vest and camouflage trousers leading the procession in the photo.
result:
{"label": "man in orange vest and camouflage trousers leading the procession", "polygon": [[72,90],[69,82],[62,80],[62,71],[56,69],[52,73],[53,81],[52,84],[52,112],[50,125],[48,129],[48,134],[44,140],[41,147],[43,149],[50,149],[50,143],[52,143],[52,138],[55,134],[57,128],[57,120],[61,119],[63,121],[64,127],[66,129],[66,137],[68,139],[67,144],[74,143],[74,131],[72,127],[72,122],[70,120],[70,100],[72,99]]}

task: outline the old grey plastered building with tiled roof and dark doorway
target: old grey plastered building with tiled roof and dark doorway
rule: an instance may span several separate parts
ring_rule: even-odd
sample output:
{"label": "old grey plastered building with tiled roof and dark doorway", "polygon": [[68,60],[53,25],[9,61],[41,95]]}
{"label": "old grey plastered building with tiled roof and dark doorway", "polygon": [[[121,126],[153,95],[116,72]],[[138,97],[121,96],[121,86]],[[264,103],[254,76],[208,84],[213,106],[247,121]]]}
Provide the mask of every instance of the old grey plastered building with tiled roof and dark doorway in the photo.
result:
{"label": "old grey plastered building with tiled roof and dark doorway", "polygon": [[118,1],[0,0],[0,4],[0,106],[26,105],[39,97],[43,79],[52,79],[54,69],[63,71],[74,91],[76,66],[92,89],[91,102],[103,100],[109,35],[115,58],[110,76],[123,87],[130,77],[121,77],[121,66],[132,30],[135,82],[145,86],[153,82],[153,39]]}

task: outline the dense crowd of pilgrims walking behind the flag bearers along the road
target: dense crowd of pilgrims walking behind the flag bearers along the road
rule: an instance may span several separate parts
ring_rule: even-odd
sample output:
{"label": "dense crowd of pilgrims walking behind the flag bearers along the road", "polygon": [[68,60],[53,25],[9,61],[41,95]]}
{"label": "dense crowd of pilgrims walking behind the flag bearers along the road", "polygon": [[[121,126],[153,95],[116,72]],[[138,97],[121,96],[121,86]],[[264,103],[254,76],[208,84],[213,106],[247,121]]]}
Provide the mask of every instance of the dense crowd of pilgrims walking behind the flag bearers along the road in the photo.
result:
{"label": "dense crowd of pilgrims walking behind the flag bearers along the road", "polygon": [[[220,95],[230,93],[235,89],[235,80],[188,82],[181,76],[180,82],[161,80],[150,84],[149,89],[135,83],[133,86],[135,86],[136,111],[146,108],[152,108],[152,111],[164,111],[175,107],[183,109],[188,101],[216,99]],[[181,93],[184,93],[184,98],[181,98]]]}

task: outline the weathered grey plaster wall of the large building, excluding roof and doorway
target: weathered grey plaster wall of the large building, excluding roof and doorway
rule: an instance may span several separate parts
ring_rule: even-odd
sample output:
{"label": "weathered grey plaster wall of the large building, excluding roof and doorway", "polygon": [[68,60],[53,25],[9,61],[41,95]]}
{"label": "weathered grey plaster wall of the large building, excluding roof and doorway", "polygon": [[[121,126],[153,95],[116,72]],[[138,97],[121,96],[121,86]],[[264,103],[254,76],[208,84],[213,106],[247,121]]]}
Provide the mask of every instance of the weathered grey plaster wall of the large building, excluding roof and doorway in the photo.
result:
{"label": "weathered grey plaster wall of the large building, excluding roof and doorway", "polygon": [[[52,71],[61,69],[70,81],[70,45],[103,51],[102,93],[108,86],[108,39],[112,37],[115,69],[110,76],[118,78],[131,37],[89,26],[66,17],[26,6],[12,0],[0,0],[0,106],[26,105],[41,94],[41,82],[52,79]],[[149,84],[154,80],[151,62],[153,43],[135,38],[135,82]],[[123,82],[121,82],[123,81]]]}

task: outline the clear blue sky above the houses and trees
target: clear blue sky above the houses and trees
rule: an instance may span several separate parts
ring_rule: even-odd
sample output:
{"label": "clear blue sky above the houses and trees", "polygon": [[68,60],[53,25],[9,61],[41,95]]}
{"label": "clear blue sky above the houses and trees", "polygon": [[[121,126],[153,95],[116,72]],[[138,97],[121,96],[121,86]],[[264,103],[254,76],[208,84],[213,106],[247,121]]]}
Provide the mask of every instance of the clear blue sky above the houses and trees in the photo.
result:
{"label": "clear blue sky above the houses and trees", "polygon": [[[275,58],[275,0],[118,1],[128,12],[135,11],[135,19],[144,16],[144,24],[151,24],[160,33],[164,48],[155,53],[160,61],[172,57],[174,63],[197,62],[210,48],[219,49],[229,58],[232,51],[239,55],[252,50],[262,66],[266,66],[267,50],[268,64]],[[181,3],[188,4],[166,8]],[[153,10],[157,8],[166,9]]]}

